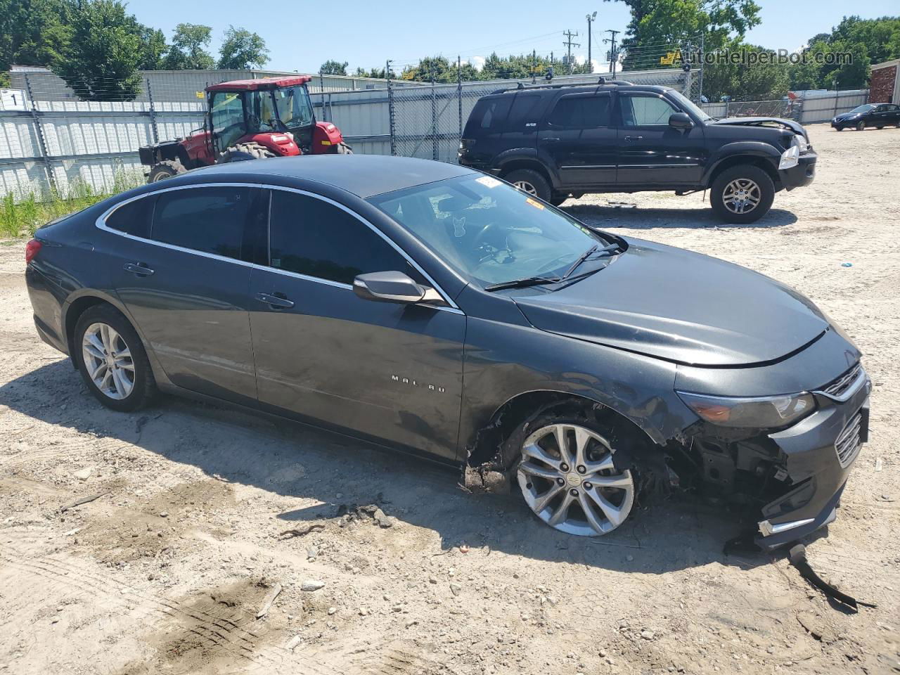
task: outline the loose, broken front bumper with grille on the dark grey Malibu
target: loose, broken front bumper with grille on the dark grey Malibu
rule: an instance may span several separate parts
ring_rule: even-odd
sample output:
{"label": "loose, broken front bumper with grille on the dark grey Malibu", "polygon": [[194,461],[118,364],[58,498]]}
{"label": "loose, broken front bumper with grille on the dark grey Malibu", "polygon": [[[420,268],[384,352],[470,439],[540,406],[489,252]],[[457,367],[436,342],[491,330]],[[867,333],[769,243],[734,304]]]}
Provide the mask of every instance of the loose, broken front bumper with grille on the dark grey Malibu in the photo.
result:
{"label": "loose, broken front bumper with grille on the dark grey Malibu", "polygon": [[762,508],[758,545],[785,545],[834,520],[860,446],[869,439],[870,391],[869,376],[860,367],[848,392],[841,397],[814,392],[818,410],[795,426],[770,434],[787,457],[784,468],[791,485]]}

